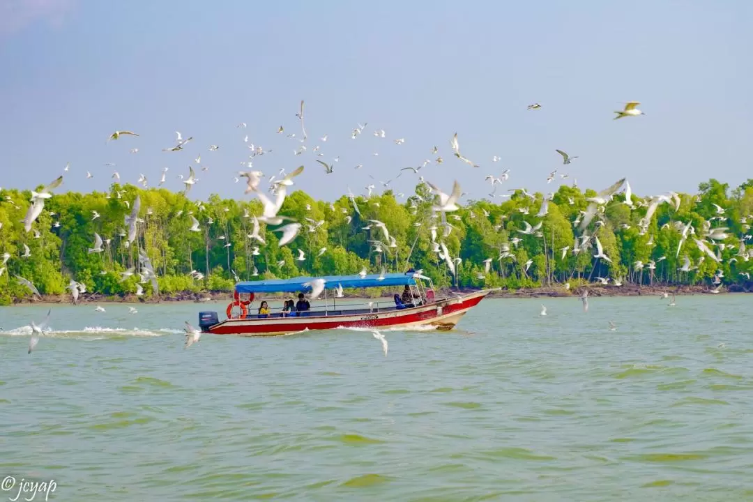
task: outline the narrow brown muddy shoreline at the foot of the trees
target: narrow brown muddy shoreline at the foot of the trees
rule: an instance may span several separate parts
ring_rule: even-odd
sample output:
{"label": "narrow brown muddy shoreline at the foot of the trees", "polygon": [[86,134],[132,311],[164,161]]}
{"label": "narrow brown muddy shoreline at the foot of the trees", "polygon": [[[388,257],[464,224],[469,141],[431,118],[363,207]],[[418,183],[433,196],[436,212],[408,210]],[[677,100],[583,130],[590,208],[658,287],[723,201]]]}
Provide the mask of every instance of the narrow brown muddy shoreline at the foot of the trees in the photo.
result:
{"label": "narrow brown muddy shoreline at the foot of the trees", "polygon": [[[688,286],[688,285],[643,285],[637,284],[625,284],[623,286],[602,286],[602,285],[588,285],[579,286],[577,288],[566,289],[562,286],[559,287],[541,287],[541,288],[520,288],[517,290],[505,290],[498,289],[492,290],[489,293],[489,298],[560,298],[560,297],[579,297],[581,293],[587,290],[590,297],[660,297],[663,294],[676,295],[676,296],[689,296],[697,294],[713,294],[707,286]],[[472,288],[460,288],[460,289],[441,289],[438,294],[442,296],[452,295],[455,293],[470,293],[472,291],[478,291]],[[720,289],[718,294],[736,294],[736,293],[751,293],[740,286],[733,285],[732,288]],[[258,300],[267,301],[282,301],[288,295],[266,295],[264,297],[258,297]],[[369,300],[373,297],[368,295],[359,294],[346,294],[343,299],[346,300]],[[227,300],[230,302],[233,299],[233,294],[228,291],[209,291],[203,294],[197,293],[184,293],[161,296],[159,299],[154,298],[140,298],[136,295],[127,295],[124,297],[118,296],[105,296],[99,294],[90,294],[85,297],[80,297],[78,304],[92,304],[97,303],[123,303],[127,305],[132,304],[157,304],[157,303],[214,303]],[[73,304],[70,294],[60,295],[43,295],[41,300],[32,300],[29,298],[16,300],[11,303],[10,306],[15,305],[60,305],[63,303]]]}

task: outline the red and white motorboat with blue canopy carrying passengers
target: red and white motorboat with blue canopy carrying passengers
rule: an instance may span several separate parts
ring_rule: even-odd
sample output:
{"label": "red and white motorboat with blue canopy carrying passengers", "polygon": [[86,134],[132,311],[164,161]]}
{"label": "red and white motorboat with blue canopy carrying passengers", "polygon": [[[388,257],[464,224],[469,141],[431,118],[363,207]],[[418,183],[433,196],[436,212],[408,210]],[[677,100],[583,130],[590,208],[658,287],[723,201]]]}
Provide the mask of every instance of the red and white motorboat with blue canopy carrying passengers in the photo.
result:
{"label": "red and white motorboat with blue canopy carrying passengers", "polygon": [[[304,294],[312,291],[312,284],[322,284],[321,281],[325,286],[324,304],[316,304],[304,312],[282,312],[283,299],[268,300],[281,305],[270,309],[269,314],[257,313],[261,303],[253,305],[258,294]],[[332,294],[334,290],[401,286],[410,291],[410,303],[403,303],[401,294],[395,294],[392,300],[357,304]],[[243,281],[235,286],[233,301],[227,306],[227,318],[220,321],[217,312],[200,312],[199,326],[203,333],[238,336],[282,336],[337,328],[428,327],[429,330],[447,331],[452,330],[462,316],[490,292],[481,290],[436,297],[431,279],[420,271]]]}

